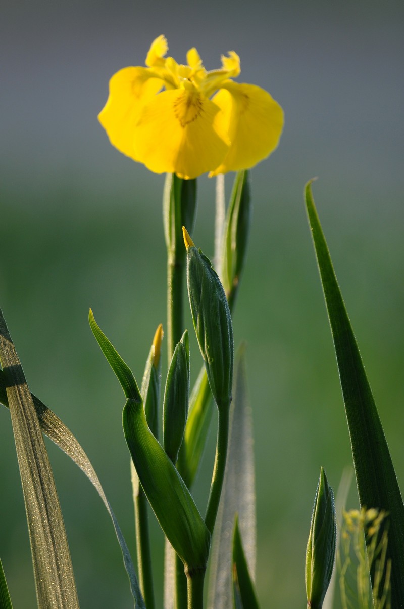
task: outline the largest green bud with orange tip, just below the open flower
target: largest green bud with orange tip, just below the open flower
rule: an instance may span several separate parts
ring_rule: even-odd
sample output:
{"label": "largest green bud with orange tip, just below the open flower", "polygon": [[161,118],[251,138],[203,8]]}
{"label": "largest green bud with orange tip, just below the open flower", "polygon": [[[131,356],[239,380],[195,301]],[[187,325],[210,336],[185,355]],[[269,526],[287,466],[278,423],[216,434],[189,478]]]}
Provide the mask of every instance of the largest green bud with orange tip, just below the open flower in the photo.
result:
{"label": "largest green bud with orange tip, just below the open flower", "polygon": [[183,227],[187,285],[193,327],[218,408],[228,408],[233,379],[233,330],[225,290],[211,261],[197,250]]}

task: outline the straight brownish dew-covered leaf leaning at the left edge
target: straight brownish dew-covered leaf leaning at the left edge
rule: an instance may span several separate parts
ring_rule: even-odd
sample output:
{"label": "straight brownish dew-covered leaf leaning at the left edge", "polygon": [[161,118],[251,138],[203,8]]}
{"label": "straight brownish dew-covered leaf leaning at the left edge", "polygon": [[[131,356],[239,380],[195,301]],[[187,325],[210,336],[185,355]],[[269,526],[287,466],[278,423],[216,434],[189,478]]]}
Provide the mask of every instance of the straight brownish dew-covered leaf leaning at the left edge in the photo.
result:
{"label": "straight brownish dew-covered leaf leaning at the left edge", "polygon": [[26,505],[38,605],[78,607],[77,591],[52,469],[37,412],[0,311],[0,360]]}

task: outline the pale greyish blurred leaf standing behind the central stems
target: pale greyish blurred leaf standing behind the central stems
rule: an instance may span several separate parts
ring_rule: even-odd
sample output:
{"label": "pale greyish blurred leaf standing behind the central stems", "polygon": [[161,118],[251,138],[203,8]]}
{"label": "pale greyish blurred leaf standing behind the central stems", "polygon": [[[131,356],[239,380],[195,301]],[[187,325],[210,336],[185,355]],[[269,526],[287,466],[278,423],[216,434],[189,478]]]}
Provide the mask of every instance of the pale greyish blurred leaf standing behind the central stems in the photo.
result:
{"label": "pale greyish blurred leaf standing behind the central stems", "polygon": [[256,567],[256,493],[251,408],[246,387],[245,351],[239,350],[230,415],[228,463],[212,544],[209,575],[211,609],[228,609],[232,603],[231,552],[236,513],[245,546],[249,572]]}

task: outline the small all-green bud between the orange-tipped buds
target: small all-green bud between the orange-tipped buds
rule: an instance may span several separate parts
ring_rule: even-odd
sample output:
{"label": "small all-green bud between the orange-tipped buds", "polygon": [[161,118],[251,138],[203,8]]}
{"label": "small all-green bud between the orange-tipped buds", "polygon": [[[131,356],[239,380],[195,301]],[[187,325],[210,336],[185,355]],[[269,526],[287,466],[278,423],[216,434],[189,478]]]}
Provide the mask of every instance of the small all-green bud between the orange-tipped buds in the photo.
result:
{"label": "small all-green bud between the orange-tipped buds", "polygon": [[173,463],[176,463],[178,458],[187,422],[189,373],[189,336],[186,330],[173,353],[162,406],[164,450]]}

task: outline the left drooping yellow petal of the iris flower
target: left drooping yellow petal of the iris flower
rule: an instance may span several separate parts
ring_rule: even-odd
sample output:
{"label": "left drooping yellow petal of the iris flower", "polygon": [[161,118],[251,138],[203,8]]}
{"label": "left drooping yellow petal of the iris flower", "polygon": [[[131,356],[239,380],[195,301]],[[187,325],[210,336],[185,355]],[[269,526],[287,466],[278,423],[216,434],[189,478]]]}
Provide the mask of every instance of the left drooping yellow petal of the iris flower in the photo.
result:
{"label": "left drooping yellow petal of the iris flower", "polygon": [[161,89],[163,83],[148,68],[123,68],[110,80],[110,95],[98,119],[111,144],[135,161],[133,132],[148,100]]}

